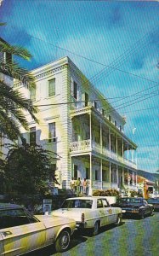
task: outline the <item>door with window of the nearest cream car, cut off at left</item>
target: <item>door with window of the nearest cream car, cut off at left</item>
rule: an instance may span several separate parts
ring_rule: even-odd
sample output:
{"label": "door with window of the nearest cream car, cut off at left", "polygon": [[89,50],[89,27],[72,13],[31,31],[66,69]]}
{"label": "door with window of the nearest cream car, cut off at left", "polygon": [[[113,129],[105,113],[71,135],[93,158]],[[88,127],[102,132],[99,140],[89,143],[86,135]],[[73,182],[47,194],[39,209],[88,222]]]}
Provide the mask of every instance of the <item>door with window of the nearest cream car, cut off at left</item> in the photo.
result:
{"label": "door with window of the nearest cream car, cut off at left", "polygon": [[24,208],[0,212],[0,233],[5,256],[27,253],[43,247],[46,242],[45,227]]}

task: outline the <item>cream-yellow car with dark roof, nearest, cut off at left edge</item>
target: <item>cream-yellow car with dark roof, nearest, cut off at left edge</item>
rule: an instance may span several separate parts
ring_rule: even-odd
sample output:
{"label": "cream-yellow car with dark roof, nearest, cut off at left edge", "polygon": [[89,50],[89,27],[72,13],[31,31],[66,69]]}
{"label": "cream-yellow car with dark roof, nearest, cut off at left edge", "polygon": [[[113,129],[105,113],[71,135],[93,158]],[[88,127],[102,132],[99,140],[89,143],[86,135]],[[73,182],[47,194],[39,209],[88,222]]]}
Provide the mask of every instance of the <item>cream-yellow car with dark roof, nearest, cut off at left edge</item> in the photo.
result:
{"label": "cream-yellow car with dark roof, nearest, cut off at left edge", "polygon": [[64,252],[75,228],[73,219],[34,216],[24,207],[0,203],[0,255],[21,255],[53,243]]}

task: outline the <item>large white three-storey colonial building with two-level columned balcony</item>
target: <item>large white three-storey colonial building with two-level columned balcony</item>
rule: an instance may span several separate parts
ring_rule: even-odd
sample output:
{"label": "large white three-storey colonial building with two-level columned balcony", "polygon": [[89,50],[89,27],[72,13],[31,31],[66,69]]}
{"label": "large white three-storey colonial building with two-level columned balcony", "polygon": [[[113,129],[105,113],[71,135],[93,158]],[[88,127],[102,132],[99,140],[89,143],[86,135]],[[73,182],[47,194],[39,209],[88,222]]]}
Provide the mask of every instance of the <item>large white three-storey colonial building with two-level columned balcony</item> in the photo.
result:
{"label": "large white three-storey colonial building with two-level columned balcony", "polygon": [[136,189],[136,144],[124,134],[125,119],[112,108],[77,66],[64,57],[32,70],[36,87],[15,83],[38,107],[36,124],[28,115],[27,143],[55,152],[60,189],[71,177],[86,177],[91,189]]}

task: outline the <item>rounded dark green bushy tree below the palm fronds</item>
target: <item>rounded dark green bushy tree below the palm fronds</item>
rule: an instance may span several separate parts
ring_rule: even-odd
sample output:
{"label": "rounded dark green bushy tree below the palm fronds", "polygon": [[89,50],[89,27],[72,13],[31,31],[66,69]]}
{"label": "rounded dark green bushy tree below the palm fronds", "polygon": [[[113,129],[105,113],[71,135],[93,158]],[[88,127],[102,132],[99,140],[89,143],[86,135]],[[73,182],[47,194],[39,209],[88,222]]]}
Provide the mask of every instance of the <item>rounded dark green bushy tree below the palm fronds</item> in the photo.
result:
{"label": "rounded dark green bushy tree below the palm fronds", "polygon": [[6,192],[48,194],[48,182],[58,183],[52,160],[57,160],[54,153],[37,145],[30,146],[25,143],[10,149],[4,166],[8,190]]}

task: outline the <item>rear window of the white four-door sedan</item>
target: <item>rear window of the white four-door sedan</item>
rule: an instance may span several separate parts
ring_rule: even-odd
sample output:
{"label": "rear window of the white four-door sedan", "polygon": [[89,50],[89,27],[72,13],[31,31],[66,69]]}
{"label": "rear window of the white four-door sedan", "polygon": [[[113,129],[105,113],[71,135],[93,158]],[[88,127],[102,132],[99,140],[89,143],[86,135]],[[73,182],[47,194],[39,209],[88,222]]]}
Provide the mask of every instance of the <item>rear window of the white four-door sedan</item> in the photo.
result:
{"label": "rear window of the white four-door sedan", "polygon": [[92,200],[82,200],[82,199],[72,199],[65,200],[62,204],[61,208],[92,208],[93,201]]}

